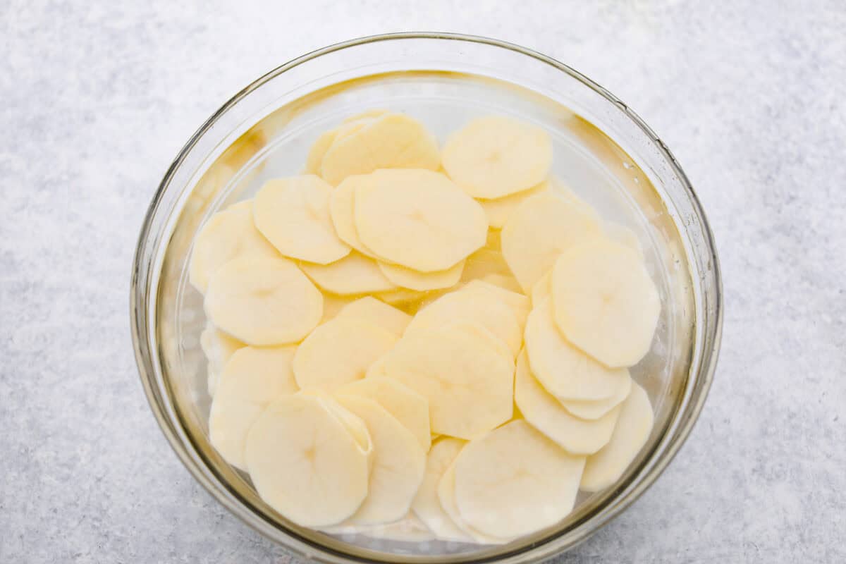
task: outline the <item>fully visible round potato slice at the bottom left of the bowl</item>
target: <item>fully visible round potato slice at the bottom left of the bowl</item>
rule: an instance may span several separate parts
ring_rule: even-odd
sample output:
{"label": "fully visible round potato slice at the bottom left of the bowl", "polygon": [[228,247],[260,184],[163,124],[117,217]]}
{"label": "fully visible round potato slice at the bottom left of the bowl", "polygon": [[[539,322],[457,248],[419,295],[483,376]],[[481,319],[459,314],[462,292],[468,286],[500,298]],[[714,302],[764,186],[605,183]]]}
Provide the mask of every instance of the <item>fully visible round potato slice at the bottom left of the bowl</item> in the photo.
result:
{"label": "fully visible round potato slice at the bottom left of the bowl", "polygon": [[[247,435],[250,478],[267,505],[304,527],[341,523],[367,496],[371,450],[362,448],[327,397],[279,397]],[[353,413],[349,419],[363,422]]]}

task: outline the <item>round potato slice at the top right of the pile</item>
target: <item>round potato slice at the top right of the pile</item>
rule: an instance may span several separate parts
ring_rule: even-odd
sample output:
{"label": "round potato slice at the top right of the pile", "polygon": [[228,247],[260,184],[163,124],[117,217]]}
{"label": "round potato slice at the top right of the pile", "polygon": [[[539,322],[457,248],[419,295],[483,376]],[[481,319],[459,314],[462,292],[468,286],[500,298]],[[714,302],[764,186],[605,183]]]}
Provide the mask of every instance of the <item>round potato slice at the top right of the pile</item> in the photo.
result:
{"label": "round potato slice at the top right of the pile", "polygon": [[477,118],[449,136],[443,167],[467,194],[495,199],[543,182],[552,166],[549,134],[504,116]]}

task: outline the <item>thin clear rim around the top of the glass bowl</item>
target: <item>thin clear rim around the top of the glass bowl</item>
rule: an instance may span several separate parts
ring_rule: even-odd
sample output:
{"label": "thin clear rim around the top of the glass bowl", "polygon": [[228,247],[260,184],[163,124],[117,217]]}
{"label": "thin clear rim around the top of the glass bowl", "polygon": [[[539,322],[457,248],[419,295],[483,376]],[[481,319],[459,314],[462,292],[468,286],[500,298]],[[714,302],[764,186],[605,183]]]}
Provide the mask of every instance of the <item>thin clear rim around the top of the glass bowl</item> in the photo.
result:
{"label": "thin clear rim around the top of the glass bowl", "polygon": [[[174,172],[179,168],[179,165],[184,161],[185,156],[195,146],[197,141],[201,139],[203,134],[205,134],[208,129],[211,129],[211,127],[215,123],[217,123],[218,119],[223,114],[228,112],[231,107],[235,106],[241,99],[244,98],[244,96],[247,96],[253,90],[260,88],[261,85],[264,85],[270,79],[277,77],[279,74],[283,74],[290,68],[294,68],[302,63],[306,63],[312,59],[315,59],[316,57],[321,57],[321,55],[336,52],[349,47],[360,46],[366,43],[373,43],[378,41],[397,41],[403,39],[467,41],[471,43],[478,43],[491,47],[500,47],[509,51],[518,52],[525,56],[535,58],[541,61],[542,63],[547,63],[548,65],[557,68],[563,73],[569,74],[572,78],[579,80],[583,85],[589,87],[591,90],[594,90],[597,94],[606,98],[607,101],[612,102],[615,106],[621,109],[626,114],[626,116],[644,134],[646,134],[651,139],[651,141],[656,146],[656,150],[659,151],[660,154],[666,159],[668,165],[672,168],[672,172],[677,175],[678,180],[683,185],[685,194],[687,195],[689,202],[693,207],[696,219],[700,224],[704,242],[706,244],[706,251],[710,254],[709,259],[711,261],[712,269],[710,274],[712,277],[712,283],[714,284],[715,288],[713,295],[714,319],[711,320],[711,323],[707,324],[707,333],[703,335],[700,339],[700,341],[708,343],[709,346],[701,350],[702,357],[700,361],[700,368],[697,373],[693,375],[693,378],[695,379],[695,389],[691,393],[691,397],[689,397],[689,402],[684,406],[684,409],[681,411],[681,413],[678,414],[678,426],[675,430],[673,430],[672,436],[669,437],[668,442],[664,446],[662,452],[659,452],[660,457],[658,457],[656,461],[654,461],[651,468],[648,468],[645,473],[638,474],[636,476],[636,479],[632,480],[634,484],[624,485],[626,487],[631,486],[624,496],[614,497],[612,500],[613,503],[609,501],[609,504],[606,507],[603,507],[598,515],[591,517],[591,523],[587,523],[591,525],[589,528],[584,528],[583,530],[579,530],[579,528],[574,529],[573,531],[571,531],[571,534],[567,539],[562,538],[562,535],[560,534],[551,534],[546,539],[543,539],[540,542],[534,543],[533,545],[530,545],[528,547],[523,547],[521,549],[514,550],[501,556],[482,556],[474,560],[465,560],[466,562],[541,561],[549,557],[555,556],[563,552],[564,550],[569,550],[570,548],[573,548],[575,545],[580,544],[585,539],[589,538],[592,534],[596,533],[597,530],[605,526],[614,517],[617,517],[627,507],[629,507],[629,505],[636,501],[645,492],[645,490],[647,490],[655,482],[658,476],[662,474],[663,470],[667,468],[667,465],[673,460],[673,457],[675,457],[675,455],[678,453],[678,450],[681,448],[682,445],[684,445],[684,441],[687,439],[690,431],[693,429],[695,421],[696,419],[698,419],[700,411],[706,401],[708,391],[711,388],[711,382],[713,381],[714,372],[717,367],[717,357],[722,338],[722,277],[719,266],[719,260],[717,258],[717,250],[714,244],[713,234],[711,233],[711,227],[707,222],[705,213],[702,210],[700,204],[700,200],[696,196],[695,191],[691,186],[689,179],[687,178],[687,175],[684,173],[681,166],[678,164],[676,158],[669,151],[667,145],[665,145],[662,140],[658,138],[658,136],[650,129],[650,127],[646,125],[646,123],[640,118],[640,116],[633,112],[626,104],[624,104],[623,101],[620,101],[611,92],[603,88],[601,85],[596,84],[596,82],[587,78],[584,74],[580,74],[578,71],[574,70],[573,68],[570,68],[564,63],[559,62],[556,59],[553,59],[552,57],[547,57],[546,55],[543,55],[540,52],[535,52],[531,49],[521,47],[514,43],[500,41],[497,39],[492,39],[483,36],[471,36],[447,32],[389,33],[376,36],[365,36],[349,41],[343,41],[334,45],[330,45],[328,47],[323,47],[313,52],[306,53],[301,57],[297,57],[289,61],[288,63],[284,63],[283,65],[272,69],[270,72],[262,75],[259,79],[255,79],[255,81],[250,83],[250,85],[247,85],[243,90],[240,90],[225,104],[223,104],[222,107],[217,110],[217,112],[214,112],[211,117],[208,118],[199,129],[197,129],[195,134],[190,137],[188,142],[179,151],[179,154],[173,160],[170,167],[168,167],[168,171],[162,178],[162,182],[159,184],[156,193],[153,195],[151,204],[146,212],[144,222],[142,223],[138,242],[135,249],[135,257],[133,260],[129,296],[129,315],[131,322],[130,328],[132,332],[132,341],[135,348],[135,360],[139,370],[140,380],[144,387],[144,391],[146,393],[146,397],[150,404],[151,410],[154,416],[156,417],[160,428],[162,429],[162,433],[165,435],[168,442],[170,443],[170,446],[173,448],[173,451],[177,454],[182,463],[184,463],[185,467],[189,470],[190,474],[198,482],[200,482],[201,485],[203,485],[203,487],[211,494],[211,496],[213,496],[224,507],[226,507],[229,512],[232,512],[236,517],[239,517],[239,519],[241,519],[244,523],[248,524],[251,528],[254,528],[256,531],[265,535],[267,538],[284,545],[286,549],[293,551],[294,554],[305,559],[306,561],[317,560],[339,563],[371,562],[371,560],[360,556],[339,554],[335,550],[319,545],[313,545],[310,542],[303,542],[302,540],[294,539],[289,535],[285,540],[279,539],[278,533],[280,533],[280,531],[278,528],[273,528],[269,523],[266,523],[266,521],[256,516],[255,513],[250,512],[249,508],[241,505],[236,498],[233,498],[232,496],[227,496],[225,491],[221,490],[218,485],[212,483],[211,480],[206,476],[206,474],[203,474],[201,472],[201,469],[198,465],[199,461],[196,459],[196,457],[192,457],[191,453],[188,452],[188,449],[184,444],[184,440],[179,436],[178,430],[174,427],[175,418],[173,417],[172,409],[168,408],[168,398],[163,397],[160,390],[153,386],[155,368],[153,366],[152,356],[154,351],[150,348],[149,343],[146,340],[150,320],[148,319],[145,304],[146,298],[149,297],[149,288],[151,287],[152,277],[151,270],[148,268],[148,266],[145,265],[145,260],[147,242],[150,240],[151,235],[155,234],[154,227],[157,227],[155,224],[156,213],[159,205],[162,202],[162,197],[171,183]],[[697,320],[697,323],[699,322],[700,320]],[[404,560],[401,556],[399,556],[399,559]]]}

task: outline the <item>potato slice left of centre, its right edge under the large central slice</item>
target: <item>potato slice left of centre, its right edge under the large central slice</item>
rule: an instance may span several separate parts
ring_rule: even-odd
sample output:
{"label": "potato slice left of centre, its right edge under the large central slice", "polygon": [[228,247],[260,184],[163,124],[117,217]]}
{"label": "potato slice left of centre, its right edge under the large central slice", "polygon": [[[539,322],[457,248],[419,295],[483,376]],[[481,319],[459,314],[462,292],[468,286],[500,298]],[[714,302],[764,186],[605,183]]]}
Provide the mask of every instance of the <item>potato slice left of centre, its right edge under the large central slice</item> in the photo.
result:
{"label": "potato slice left of centre, its right edge under the large central slice", "polygon": [[376,359],[393,348],[397,337],[366,321],[338,319],[317,327],[294,354],[300,388],[331,390],[365,377]]}

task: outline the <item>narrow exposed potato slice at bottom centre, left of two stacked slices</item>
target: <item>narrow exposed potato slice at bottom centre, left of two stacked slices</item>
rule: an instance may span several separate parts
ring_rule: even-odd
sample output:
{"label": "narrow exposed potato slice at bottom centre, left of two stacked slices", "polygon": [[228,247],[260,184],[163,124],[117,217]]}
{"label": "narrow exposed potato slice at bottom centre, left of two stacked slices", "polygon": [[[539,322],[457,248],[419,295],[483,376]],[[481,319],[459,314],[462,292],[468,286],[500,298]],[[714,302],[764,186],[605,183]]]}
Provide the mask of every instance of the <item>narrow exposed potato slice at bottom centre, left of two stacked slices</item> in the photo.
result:
{"label": "narrow exposed potato slice at bottom centre, left of two stacked slices", "polygon": [[425,523],[438,539],[463,542],[470,540],[470,535],[464,533],[443,510],[437,495],[437,488],[443,474],[455,457],[459,456],[465,444],[467,441],[450,437],[444,437],[432,444],[429,455],[426,457],[426,473],[423,474],[423,481],[417,490],[415,500],[411,503],[411,511],[420,517],[420,521]]}

